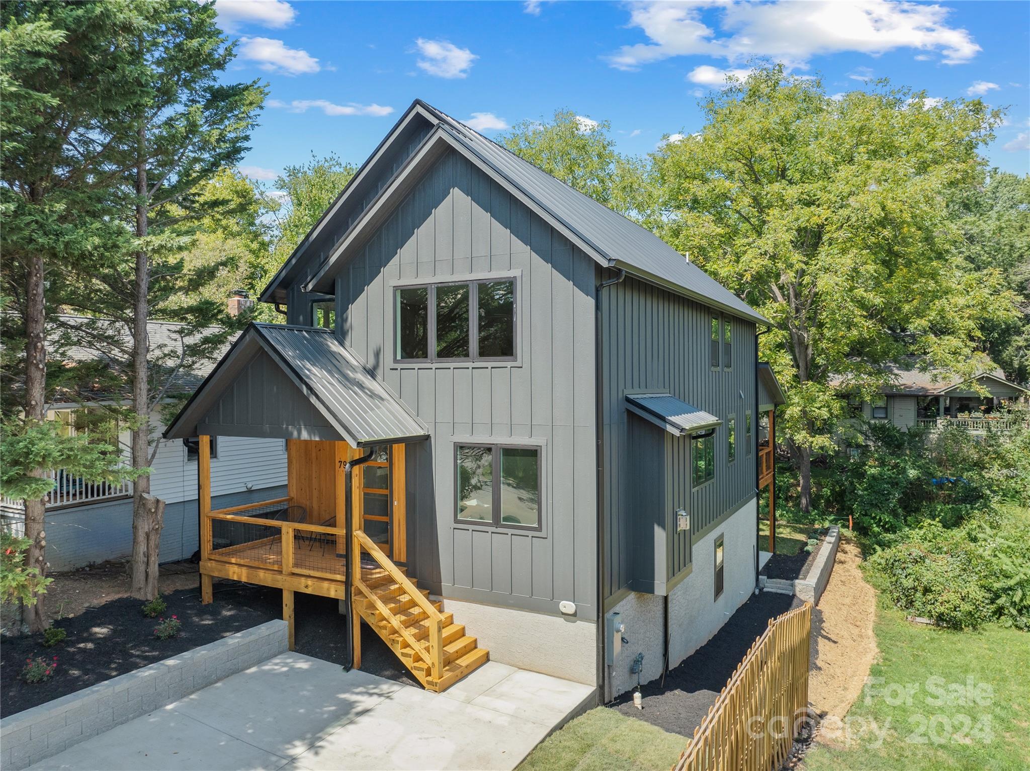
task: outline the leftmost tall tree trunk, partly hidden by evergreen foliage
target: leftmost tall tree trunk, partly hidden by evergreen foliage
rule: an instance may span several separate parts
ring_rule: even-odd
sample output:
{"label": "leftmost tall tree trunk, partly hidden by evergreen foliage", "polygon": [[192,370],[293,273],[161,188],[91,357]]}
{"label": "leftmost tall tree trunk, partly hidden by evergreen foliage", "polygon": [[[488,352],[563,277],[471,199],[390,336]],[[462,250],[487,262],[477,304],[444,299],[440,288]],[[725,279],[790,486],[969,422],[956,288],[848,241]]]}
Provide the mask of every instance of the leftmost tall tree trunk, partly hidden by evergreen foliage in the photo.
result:
{"label": "leftmost tall tree trunk, partly hidden by evergreen foliage", "polygon": [[[43,258],[34,254],[29,264],[25,309],[25,418],[29,423],[42,423],[46,418],[46,307],[43,302]],[[45,477],[45,468],[33,468],[30,477]],[[42,498],[25,501],[25,537],[32,542],[26,555],[26,566],[46,574],[46,533],[43,532],[46,509]],[[49,626],[43,612],[43,595],[28,607],[30,632],[41,632]]]}

